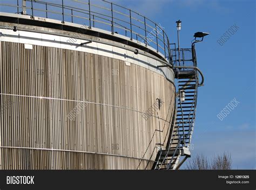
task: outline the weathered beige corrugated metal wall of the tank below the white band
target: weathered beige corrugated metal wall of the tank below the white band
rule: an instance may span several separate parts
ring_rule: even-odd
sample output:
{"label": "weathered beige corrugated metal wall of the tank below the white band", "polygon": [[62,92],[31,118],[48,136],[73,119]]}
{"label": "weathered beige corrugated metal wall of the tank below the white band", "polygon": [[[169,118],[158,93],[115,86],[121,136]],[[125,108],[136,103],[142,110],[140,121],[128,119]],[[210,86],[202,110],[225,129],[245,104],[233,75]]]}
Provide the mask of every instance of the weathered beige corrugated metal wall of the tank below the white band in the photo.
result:
{"label": "weathered beige corrugated metal wall of the tank below the white band", "polygon": [[[0,48],[0,168],[136,169],[145,154],[144,169],[166,144],[175,89],[164,76],[86,52]],[[144,119],[157,98],[160,110]]]}

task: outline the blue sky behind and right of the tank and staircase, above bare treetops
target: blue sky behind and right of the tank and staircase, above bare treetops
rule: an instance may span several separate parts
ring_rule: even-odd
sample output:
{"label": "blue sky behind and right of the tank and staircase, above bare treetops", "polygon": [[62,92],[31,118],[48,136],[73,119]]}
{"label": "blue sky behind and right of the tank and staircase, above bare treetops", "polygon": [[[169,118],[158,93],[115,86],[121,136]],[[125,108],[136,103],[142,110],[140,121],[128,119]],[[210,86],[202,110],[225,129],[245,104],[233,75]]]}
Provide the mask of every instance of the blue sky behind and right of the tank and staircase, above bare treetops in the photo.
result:
{"label": "blue sky behind and right of the tank and staircase, above bare treetops", "polygon": [[[210,32],[210,36],[196,46],[198,66],[205,75],[205,86],[199,88],[192,157],[203,153],[211,158],[226,151],[231,153],[234,169],[256,169],[255,1],[113,2],[137,10],[160,23],[165,27],[171,43],[177,43],[175,22],[180,19],[180,46],[184,48],[191,46],[194,32]],[[237,32],[221,46],[217,40],[233,25],[238,27]],[[217,114],[233,98],[240,103],[220,121]]]}

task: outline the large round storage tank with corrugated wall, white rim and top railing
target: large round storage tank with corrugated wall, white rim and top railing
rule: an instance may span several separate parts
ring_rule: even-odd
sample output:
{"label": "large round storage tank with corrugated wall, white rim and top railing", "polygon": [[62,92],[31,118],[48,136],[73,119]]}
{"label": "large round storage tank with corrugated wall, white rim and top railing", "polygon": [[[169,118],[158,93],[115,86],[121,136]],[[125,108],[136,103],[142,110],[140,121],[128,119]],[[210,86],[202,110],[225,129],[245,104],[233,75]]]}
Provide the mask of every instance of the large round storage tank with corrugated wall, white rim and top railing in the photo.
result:
{"label": "large round storage tank with corrugated wall, white rim and top railing", "polygon": [[31,2],[18,14],[0,5],[0,169],[151,169],[176,98],[173,70],[157,67],[168,62],[161,26],[139,33],[130,15],[122,34],[113,16],[106,29],[97,12],[75,23],[77,5],[62,20]]}

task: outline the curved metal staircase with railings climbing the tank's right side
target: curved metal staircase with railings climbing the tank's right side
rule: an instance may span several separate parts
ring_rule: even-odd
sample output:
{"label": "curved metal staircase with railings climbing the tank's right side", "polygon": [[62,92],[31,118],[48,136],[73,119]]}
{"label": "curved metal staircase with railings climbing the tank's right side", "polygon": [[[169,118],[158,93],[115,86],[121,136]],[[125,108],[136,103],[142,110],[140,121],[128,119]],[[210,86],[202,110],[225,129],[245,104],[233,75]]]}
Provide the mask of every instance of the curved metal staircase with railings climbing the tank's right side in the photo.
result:
{"label": "curved metal staircase with railings climbing the tank's right side", "polygon": [[[197,94],[199,79],[196,52],[191,49],[180,49],[179,60],[177,48],[172,50],[172,62],[175,77],[178,80],[176,94],[176,112],[173,130],[170,131],[166,149],[160,149],[153,164],[153,170],[177,170],[190,157],[191,137],[196,119]],[[181,57],[181,59],[180,59]],[[183,160],[180,161],[180,158]]]}

